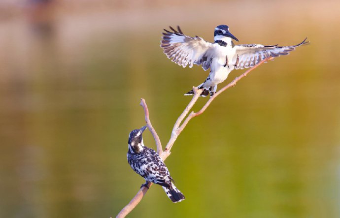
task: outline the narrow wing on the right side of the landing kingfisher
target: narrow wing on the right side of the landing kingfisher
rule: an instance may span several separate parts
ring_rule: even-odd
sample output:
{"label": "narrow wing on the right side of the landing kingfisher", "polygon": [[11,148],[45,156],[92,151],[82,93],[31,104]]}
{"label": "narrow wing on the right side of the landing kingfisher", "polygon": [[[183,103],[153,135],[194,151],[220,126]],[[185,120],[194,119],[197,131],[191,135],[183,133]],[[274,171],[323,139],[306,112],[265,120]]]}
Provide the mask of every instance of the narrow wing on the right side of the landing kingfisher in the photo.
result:
{"label": "narrow wing on the right side of the landing kingfisher", "polygon": [[[277,45],[236,45],[236,55],[233,63],[236,64],[235,69],[243,69],[256,65],[262,60],[270,57],[278,57],[280,55],[288,55],[289,52],[295,50],[296,47],[306,45],[309,41],[304,41],[293,46],[277,46]],[[238,57],[238,60],[237,60]]]}

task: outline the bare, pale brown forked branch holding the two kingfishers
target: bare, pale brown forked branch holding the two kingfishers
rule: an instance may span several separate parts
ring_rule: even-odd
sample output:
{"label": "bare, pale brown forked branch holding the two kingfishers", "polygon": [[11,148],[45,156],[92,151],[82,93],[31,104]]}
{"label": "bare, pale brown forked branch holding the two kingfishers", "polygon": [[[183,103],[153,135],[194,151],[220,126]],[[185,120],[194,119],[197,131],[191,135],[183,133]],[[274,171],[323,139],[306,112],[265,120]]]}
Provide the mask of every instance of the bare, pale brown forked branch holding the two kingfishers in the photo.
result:
{"label": "bare, pale brown forked branch holding the two kingfishers", "polygon": [[[178,117],[176,123],[174,124],[173,128],[172,128],[172,132],[171,132],[171,137],[170,140],[164,150],[164,152],[162,152],[162,145],[161,145],[161,141],[156,133],[156,130],[153,128],[153,126],[151,125],[151,121],[149,118],[149,110],[147,108],[146,102],[143,98],[140,99],[140,105],[143,107],[144,109],[144,114],[145,114],[145,122],[146,125],[148,127],[148,129],[150,130],[151,134],[153,135],[155,142],[156,142],[156,146],[157,146],[157,153],[162,157],[163,160],[165,160],[169,155],[170,155],[170,150],[174,144],[174,142],[176,141],[178,135],[183,131],[183,129],[185,128],[185,126],[189,123],[189,121],[194,118],[197,117],[199,115],[201,115],[205,109],[210,105],[210,103],[222,92],[226,91],[227,89],[229,89],[230,87],[234,87],[236,85],[236,83],[242,79],[243,77],[247,76],[248,73],[250,73],[253,69],[255,69],[256,67],[258,67],[259,65],[261,65],[264,62],[267,61],[271,61],[274,58],[267,58],[262,60],[261,62],[259,62],[258,64],[256,64],[255,66],[253,66],[252,68],[248,69],[247,71],[245,71],[243,74],[241,74],[240,76],[236,77],[231,83],[229,83],[228,85],[226,85],[225,87],[223,87],[222,89],[220,89],[217,93],[215,93],[212,97],[210,97],[210,99],[204,104],[204,106],[202,107],[201,110],[199,110],[198,112],[194,113],[193,111],[188,115],[189,111],[192,109],[192,107],[195,105],[196,101],[198,100],[198,98],[200,97],[200,94],[202,93],[203,90],[199,90],[196,87],[193,87],[193,91],[194,91],[194,96],[191,99],[191,101],[189,102],[189,104],[186,106],[186,108],[184,109],[183,113]],[[187,116],[188,115],[188,116]],[[184,118],[187,116],[187,118],[184,120]],[[184,120],[184,122],[183,122]],[[183,122],[183,123],[182,123]],[[181,125],[182,123],[182,125]],[[152,183],[149,183],[148,187],[150,187],[152,185]],[[124,218],[126,217],[136,206],[137,204],[140,202],[140,200],[143,198],[143,196],[146,194],[148,188],[146,187],[141,187],[140,190],[137,192],[137,194],[135,195],[135,197],[129,202],[128,205],[126,205],[117,215],[116,218]]]}

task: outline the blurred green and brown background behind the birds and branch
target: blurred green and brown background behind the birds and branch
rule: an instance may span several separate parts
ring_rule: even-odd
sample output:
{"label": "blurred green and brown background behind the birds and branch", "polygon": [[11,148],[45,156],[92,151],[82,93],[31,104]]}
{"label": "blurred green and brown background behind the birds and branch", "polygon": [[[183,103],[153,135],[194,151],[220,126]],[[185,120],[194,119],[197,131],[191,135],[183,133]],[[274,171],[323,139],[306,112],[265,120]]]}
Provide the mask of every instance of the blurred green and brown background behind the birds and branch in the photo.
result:
{"label": "blurred green and brown background behind the birds and branch", "polygon": [[[0,217],[116,216],[144,182],[126,160],[129,132],[144,125],[139,99],[165,146],[191,99],[183,93],[207,76],[166,58],[162,29],[212,41],[226,24],[242,44],[311,44],[257,68],[187,125],[166,160],[185,201],[153,186],[129,217],[339,218],[339,8],[1,0]],[[144,142],[155,148],[148,131]]]}

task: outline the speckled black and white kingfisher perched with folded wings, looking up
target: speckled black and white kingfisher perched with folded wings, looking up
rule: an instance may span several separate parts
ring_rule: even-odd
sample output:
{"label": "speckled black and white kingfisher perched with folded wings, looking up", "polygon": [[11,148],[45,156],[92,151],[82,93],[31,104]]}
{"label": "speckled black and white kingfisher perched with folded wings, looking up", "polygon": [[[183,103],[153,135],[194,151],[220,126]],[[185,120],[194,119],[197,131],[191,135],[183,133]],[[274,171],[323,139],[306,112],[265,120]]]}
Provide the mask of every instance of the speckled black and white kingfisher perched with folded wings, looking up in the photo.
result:
{"label": "speckled black and white kingfisher perched with folded wings, looking up", "polygon": [[145,129],[146,126],[143,126],[130,132],[127,154],[131,168],[145,179],[141,187],[147,187],[152,182],[161,185],[172,202],[184,200],[184,195],[173,185],[174,181],[162,158],[153,149],[144,146],[142,133]]}

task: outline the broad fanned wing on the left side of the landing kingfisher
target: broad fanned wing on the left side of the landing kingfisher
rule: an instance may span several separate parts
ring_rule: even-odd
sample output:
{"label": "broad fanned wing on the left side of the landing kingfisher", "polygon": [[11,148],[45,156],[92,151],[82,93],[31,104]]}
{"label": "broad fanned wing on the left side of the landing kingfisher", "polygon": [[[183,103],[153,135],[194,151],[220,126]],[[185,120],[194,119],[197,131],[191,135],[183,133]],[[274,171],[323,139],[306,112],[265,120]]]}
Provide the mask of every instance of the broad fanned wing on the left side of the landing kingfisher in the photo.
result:
{"label": "broad fanned wing on the left side of the landing kingfisher", "polygon": [[213,44],[198,36],[184,35],[179,26],[177,31],[172,27],[170,29],[173,32],[164,30],[161,40],[161,47],[168,58],[183,67],[197,64],[207,70],[212,60]]}

